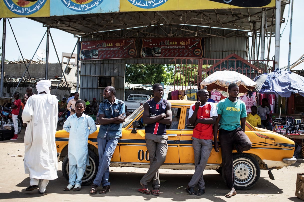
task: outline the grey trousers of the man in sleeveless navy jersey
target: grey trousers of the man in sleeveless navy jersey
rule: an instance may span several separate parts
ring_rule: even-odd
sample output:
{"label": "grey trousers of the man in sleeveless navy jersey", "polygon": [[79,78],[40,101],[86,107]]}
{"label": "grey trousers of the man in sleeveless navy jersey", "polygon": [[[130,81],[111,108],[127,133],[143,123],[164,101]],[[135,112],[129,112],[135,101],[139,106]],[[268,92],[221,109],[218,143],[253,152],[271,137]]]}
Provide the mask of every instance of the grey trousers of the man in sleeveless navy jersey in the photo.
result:
{"label": "grey trousers of the man in sleeveless navy jersey", "polygon": [[146,144],[149,152],[150,168],[140,180],[140,183],[142,183],[143,185],[148,185],[148,183],[153,179],[152,187],[160,187],[158,169],[161,167],[161,165],[163,165],[166,160],[166,155],[168,151],[167,140],[167,135],[155,135],[151,133],[146,133]]}

